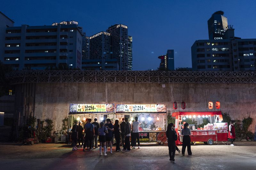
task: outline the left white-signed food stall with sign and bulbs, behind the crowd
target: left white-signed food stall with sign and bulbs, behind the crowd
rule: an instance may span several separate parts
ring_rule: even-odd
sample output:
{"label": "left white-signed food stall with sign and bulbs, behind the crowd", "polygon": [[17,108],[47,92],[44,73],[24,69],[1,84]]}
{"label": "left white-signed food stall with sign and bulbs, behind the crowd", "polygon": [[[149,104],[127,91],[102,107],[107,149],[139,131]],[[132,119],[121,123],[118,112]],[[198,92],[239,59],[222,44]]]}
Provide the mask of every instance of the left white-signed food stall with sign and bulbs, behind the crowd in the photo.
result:
{"label": "left white-signed food stall with sign and bulbs, behind the crowd", "polygon": [[82,126],[85,124],[86,118],[98,119],[102,122],[103,119],[111,119],[114,124],[114,104],[70,104],[68,113],[68,141],[71,143],[71,129],[74,125],[74,120],[82,121]]}

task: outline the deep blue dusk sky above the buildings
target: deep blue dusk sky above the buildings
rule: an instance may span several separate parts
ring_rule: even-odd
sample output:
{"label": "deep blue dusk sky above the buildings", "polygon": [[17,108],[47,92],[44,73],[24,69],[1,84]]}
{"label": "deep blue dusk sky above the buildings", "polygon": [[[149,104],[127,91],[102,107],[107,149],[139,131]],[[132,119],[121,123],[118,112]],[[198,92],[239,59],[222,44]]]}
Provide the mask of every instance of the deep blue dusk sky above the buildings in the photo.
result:
{"label": "deep blue dusk sky above the buildings", "polygon": [[157,69],[157,56],[167,49],[175,51],[175,68],[192,67],[190,48],[208,39],[207,20],[215,11],[224,11],[235,36],[256,38],[255,9],[255,0],[6,0],[0,5],[14,26],[76,20],[91,36],[122,23],[133,37],[133,70]]}

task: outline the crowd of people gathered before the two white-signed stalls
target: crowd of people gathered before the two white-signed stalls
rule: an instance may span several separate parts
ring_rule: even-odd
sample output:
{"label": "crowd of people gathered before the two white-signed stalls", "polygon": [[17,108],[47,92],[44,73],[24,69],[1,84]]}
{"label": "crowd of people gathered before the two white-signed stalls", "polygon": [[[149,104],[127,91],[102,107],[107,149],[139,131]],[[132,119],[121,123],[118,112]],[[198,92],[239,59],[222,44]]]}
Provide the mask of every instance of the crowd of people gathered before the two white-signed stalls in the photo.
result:
{"label": "crowd of people gathered before the two white-signed stalls", "polygon": [[[77,125],[78,124],[78,125]],[[74,121],[74,125],[71,129],[71,139],[72,139],[72,151],[78,150],[76,147],[78,140],[78,147],[83,147],[83,151],[87,147],[88,151],[92,151],[92,148],[98,148],[98,138],[100,142],[100,155],[102,154],[102,147],[104,155],[107,155],[107,148],[110,147],[110,153],[112,153],[113,139],[116,139],[116,151],[131,151],[130,137],[132,135],[132,149],[135,149],[136,142],[138,143],[138,149],[140,149],[140,139],[139,139],[139,125],[138,117],[135,117],[135,122],[130,124],[128,118],[122,118],[122,122],[119,124],[118,120],[115,120],[114,125],[112,121],[108,118],[100,122],[97,122],[97,118],[85,119],[84,128],[82,126],[82,121]],[[83,135],[84,131],[84,135]],[[136,141],[137,140],[137,141]],[[81,145],[80,145],[81,142]],[[122,143],[123,150],[120,148],[120,142]]]}

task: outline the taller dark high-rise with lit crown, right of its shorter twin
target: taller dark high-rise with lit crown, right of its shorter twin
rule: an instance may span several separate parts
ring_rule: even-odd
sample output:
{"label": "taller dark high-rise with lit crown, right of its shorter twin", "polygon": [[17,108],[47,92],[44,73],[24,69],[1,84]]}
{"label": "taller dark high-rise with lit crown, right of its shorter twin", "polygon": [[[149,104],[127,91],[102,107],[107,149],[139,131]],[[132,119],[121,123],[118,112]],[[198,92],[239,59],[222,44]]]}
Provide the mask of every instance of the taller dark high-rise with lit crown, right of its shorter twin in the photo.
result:
{"label": "taller dark high-rise with lit crown, right of its shorter twin", "polygon": [[110,26],[110,58],[117,59],[119,70],[128,70],[128,27],[122,24]]}

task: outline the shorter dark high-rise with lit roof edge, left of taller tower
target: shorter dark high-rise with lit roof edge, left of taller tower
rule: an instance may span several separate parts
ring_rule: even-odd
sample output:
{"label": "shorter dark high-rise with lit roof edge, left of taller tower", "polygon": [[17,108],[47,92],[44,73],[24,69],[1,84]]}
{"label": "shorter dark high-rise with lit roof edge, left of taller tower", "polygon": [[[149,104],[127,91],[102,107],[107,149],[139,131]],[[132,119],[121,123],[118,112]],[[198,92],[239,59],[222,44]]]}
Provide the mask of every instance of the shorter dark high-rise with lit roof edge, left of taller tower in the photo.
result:
{"label": "shorter dark high-rise with lit roof edge, left of taller tower", "polygon": [[104,31],[90,37],[90,59],[110,58],[110,34]]}

